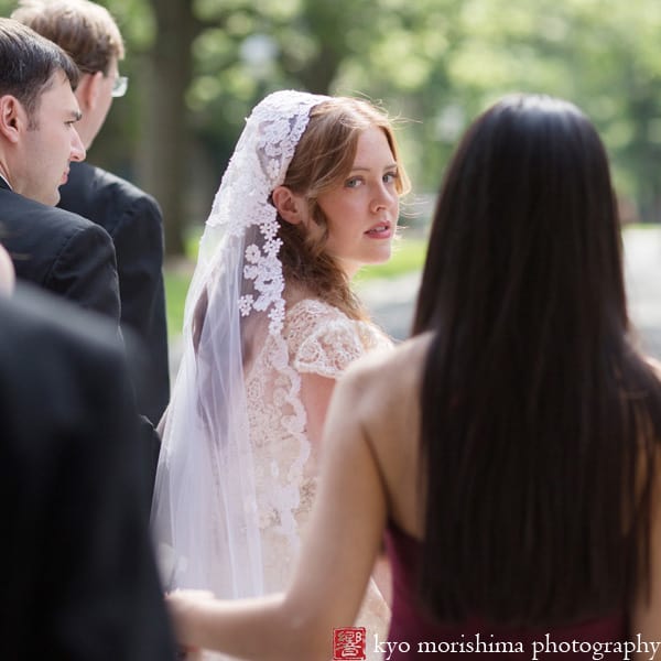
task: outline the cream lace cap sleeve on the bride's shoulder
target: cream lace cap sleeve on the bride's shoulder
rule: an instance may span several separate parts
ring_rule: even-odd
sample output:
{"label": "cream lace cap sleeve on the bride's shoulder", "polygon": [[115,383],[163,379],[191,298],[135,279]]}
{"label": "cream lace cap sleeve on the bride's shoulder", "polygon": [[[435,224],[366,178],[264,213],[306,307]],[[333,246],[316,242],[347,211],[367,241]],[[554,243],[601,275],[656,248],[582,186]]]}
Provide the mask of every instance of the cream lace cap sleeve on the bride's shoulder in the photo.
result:
{"label": "cream lace cap sleeve on the bride's shoulder", "polygon": [[321,301],[303,301],[289,317],[293,367],[301,373],[337,379],[368,350],[391,346],[376,326],[349,319]]}

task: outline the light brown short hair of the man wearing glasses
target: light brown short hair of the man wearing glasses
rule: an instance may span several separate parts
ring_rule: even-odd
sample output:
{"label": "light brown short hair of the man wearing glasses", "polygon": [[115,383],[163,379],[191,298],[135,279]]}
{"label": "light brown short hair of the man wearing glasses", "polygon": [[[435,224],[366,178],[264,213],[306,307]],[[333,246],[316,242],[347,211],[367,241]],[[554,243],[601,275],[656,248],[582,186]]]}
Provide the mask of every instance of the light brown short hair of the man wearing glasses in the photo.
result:
{"label": "light brown short hair of the man wearing glasses", "polygon": [[80,72],[108,74],[124,46],[117,23],[105,7],[88,0],[20,0],[12,19],[62,46]]}

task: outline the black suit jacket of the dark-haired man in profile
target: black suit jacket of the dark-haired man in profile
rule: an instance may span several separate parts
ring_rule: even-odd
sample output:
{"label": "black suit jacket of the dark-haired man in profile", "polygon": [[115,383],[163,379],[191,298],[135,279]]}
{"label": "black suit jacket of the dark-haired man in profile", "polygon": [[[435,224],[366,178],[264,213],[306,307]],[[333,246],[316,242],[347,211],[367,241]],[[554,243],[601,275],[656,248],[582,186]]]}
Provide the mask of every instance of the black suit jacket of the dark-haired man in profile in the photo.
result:
{"label": "black suit jacket of the dark-haired man in profile", "polygon": [[119,324],[112,240],[89,220],[9,189],[0,178],[0,241],[20,280]]}

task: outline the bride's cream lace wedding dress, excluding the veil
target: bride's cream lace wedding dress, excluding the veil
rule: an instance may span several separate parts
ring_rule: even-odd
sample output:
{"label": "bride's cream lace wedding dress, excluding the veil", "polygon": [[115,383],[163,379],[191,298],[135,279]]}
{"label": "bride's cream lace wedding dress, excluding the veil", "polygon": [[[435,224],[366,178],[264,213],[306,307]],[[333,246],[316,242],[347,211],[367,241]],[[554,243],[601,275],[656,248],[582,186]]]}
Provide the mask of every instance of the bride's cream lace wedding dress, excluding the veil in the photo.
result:
{"label": "bride's cream lace wedding dress, excluding the veil", "polygon": [[[282,336],[286,348],[268,336],[246,376],[267,593],[284,589],[291,578],[316,492],[319,448],[307,436],[301,375],[336,379],[367,351],[392,346],[375,325],[313,299],[288,310]],[[390,609],[370,581],[356,621],[367,629],[368,648],[375,633],[386,639],[389,619]]]}

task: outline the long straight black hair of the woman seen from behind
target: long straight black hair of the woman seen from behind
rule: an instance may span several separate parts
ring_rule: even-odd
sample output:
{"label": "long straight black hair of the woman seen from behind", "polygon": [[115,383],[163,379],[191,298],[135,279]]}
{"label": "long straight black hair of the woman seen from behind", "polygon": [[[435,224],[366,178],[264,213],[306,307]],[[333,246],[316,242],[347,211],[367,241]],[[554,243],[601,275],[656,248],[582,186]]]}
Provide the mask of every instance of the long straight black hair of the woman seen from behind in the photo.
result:
{"label": "long straight black hair of the woman seen from behind", "polygon": [[437,617],[549,626],[631,603],[661,395],[628,328],[597,132],[566,101],[505,98],[449,164],[414,319],[433,333],[420,592]]}

